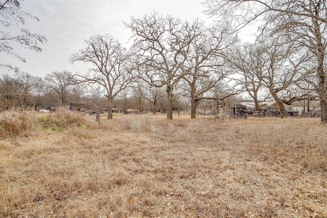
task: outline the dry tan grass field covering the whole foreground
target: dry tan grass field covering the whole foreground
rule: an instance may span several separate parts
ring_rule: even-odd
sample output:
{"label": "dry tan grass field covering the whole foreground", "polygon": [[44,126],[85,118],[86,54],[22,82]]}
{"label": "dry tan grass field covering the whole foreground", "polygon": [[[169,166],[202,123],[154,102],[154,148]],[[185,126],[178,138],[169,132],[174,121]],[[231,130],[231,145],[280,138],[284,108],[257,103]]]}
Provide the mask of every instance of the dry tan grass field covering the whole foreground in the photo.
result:
{"label": "dry tan grass field covering the whole foreground", "polygon": [[0,123],[0,217],[327,217],[319,118],[54,114]]}

